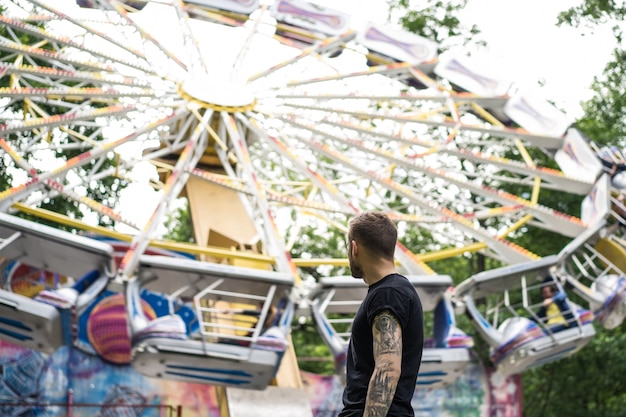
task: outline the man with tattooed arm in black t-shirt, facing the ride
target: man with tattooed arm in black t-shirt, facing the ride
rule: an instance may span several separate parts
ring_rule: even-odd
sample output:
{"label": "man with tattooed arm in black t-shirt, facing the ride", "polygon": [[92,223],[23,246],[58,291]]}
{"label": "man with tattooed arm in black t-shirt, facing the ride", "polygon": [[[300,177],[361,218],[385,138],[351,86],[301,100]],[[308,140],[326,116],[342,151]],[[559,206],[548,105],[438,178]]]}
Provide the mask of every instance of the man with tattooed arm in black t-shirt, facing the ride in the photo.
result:
{"label": "man with tattooed arm in black t-shirt, facing the ride", "polygon": [[348,260],[369,286],[352,324],[339,417],[414,416],[424,316],[415,288],[395,268],[398,232],[384,213],[350,221]]}

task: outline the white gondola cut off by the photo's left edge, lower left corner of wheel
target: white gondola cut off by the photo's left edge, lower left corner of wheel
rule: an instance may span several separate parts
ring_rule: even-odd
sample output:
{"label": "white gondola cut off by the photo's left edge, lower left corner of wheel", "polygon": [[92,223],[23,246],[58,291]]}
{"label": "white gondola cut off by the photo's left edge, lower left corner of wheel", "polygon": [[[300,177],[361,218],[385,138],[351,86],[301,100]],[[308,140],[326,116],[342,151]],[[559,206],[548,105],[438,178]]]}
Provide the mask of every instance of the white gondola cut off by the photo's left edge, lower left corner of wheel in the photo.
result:
{"label": "white gondola cut off by the photo's left edge, lower left corner of wheel", "polygon": [[[0,258],[5,278],[0,289],[0,338],[44,353],[71,343],[71,325],[55,305],[60,300],[72,304],[89,297],[82,291],[85,281],[80,278],[90,280],[92,289],[93,278],[97,281],[104,276],[107,280],[113,270],[112,253],[105,243],[0,213]],[[35,299],[14,293],[10,280],[16,278],[21,266],[74,278],[76,288],[46,291]],[[72,300],[69,294],[73,292],[76,296]],[[45,293],[58,297],[46,299]]]}

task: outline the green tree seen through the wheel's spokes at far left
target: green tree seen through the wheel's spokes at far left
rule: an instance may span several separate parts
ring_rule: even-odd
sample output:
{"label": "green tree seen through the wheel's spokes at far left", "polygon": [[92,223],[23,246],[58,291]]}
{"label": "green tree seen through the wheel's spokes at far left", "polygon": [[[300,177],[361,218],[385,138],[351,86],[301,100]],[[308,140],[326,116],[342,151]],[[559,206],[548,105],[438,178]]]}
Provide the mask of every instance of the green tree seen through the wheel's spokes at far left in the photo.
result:
{"label": "green tree seen through the wheel's spokes at far left", "polygon": [[[26,3],[23,5],[28,9],[31,7]],[[0,7],[0,12],[4,12],[4,10]],[[31,23],[33,26],[37,26],[40,28],[44,28],[43,23]],[[46,51],[55,51],[55,46],[52,42],[48,42],[44,37],[38,38],[37,36],[22,31],[19,28],[9,27],[8,25],[0,25],[0,37],[10,39],[13,42],[20,43],[22,45],[37,45],[39,49],[43,49]],[[16,65],[20,65],[24,62],[28,62],[29,65],[33,66],[41,66],[41,67],[50,67],[54,66],[53,62],[48,62],[43,59],[37,57],[30,57],[30,61],[25,61],[24,57],[21,54],[15,54],[11,51],[0,50],[0,62],[8,62]],[[64,68],[64,67],[63,67]],[[65,69],[65,68],[64,68]],[[74,86],[77,82],[71,80],[65,80],[59,82],[55,87],[62,86]],[[47,84],[41,81],[39,78],[27,78],[23,75],[10,75],[8,73],[0,74],[0,87],[33,87],[33,88],[48,88],[51,87],[52,84]],[[88,83],[83,85],[84,87],[94,87]],[[6,123],[7,120],[13,120],[17,118],[21,119],[29,119],[33,117],[30,113],[28,113],[28,108],[31,108],[31,104],[36,104],[37,108],[41,110],[44,114],[38,114],[37,117],[43,117],[46,115],[61,115],[67,111],[67,108],[63,105],[59,105],[55,103],[54,100],[49,100],[45,95],[42,95],[40,98],[30,97],[28,99],[15,99],[15,100],[7,100],[3,103],[3,106],[0,107],[0,123]],[[76,104],[76,103],[74,103]],[[105,103],[98,102],[88,102],[86,103],[86,107],[88,108],[98,108],[106,106]],[[72,133],[73,132],[73,133]],[[91,140],[94,141],[103,141],[104,137],[102,134],[95,134],[96,128],[88,126],[88,125],[68,125],[65,129],[54,128],[50,129],[50,132],[47,133],[48,140],[54,144],[55,146],[50,145],[50,148],[55,148],[54,158],[60,160],[69,160],[71,158],[78,157],[81,153],[84,152],[83,149],[74,148],[73,150],[68,147],[74,141],[72,134],[77,134],[82,137],[90,137]],[[4,137],[14,150],[20,154],[24,161],[32,166],[38,166],[44,159],[50,159],[51,156],[46,154],[46,156],[41,157],[37,155],[37,151],[31,150],[22,150],[21,144],[34,143],[36,142],[37,135],[41,135],[42,132],[35,131],[21,131],[18,133],[12,133]],[[89,178],[90,175],[98,176],[98,173],[104,172],[108,169],[113,169],[117,165],[116,156],[113,153],[109,153],[104,157],[93,159],[83,165],[79,170],[76,171],[76,174],[81,178]],[[10,189],[15,186],[14,175],[12,172],[16,171],[24,171],[17,166],[15,161],[10,157],[8,153],[2,153],[0,160],[0,191]],[[66,176],[62,176],[56,178],[61,185],[68,185],[69,180]],[[121,191],[128,185],[128,182],[120,177],[116,176],[106,176],[105,178],[100,178],[97,181],[85,181],[82,184],[82,194],[80,197],[87,197],[92,199],[98,203],[101,203],[107,207],[114,208],[119,201],[119,196]],[[89,213],[91,213],[91,209],[89,209],[85,204],[77,201],[77,199],[69,198],[60,193],[50,193],[46,198],[42,199],[41,202],[38,203],[38,208],[53,211],[55,213],[60,213],[66,215],[68,217],[74,219],[82,219]],[[48,224],[60,229],[68,229],[65,225],[59,225],[57,223],[53,223],[46,219],[41,219],[36,216],[30,214],[17,213],[20,217],[27,218],[29,220],[37,221],[40,223]],[[100,226],[113,227],[115,225],[115,221],[109,218],[106,215],[101,215],[96,213],[96,221]]]}

